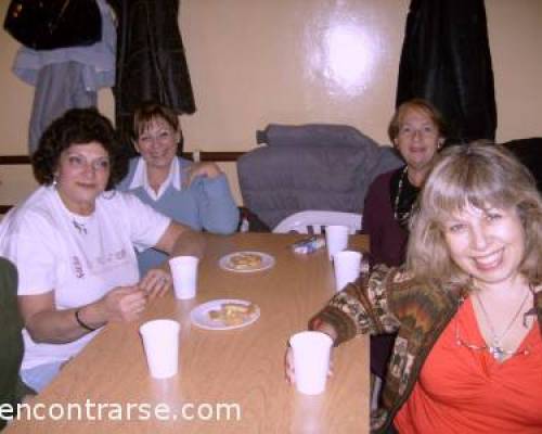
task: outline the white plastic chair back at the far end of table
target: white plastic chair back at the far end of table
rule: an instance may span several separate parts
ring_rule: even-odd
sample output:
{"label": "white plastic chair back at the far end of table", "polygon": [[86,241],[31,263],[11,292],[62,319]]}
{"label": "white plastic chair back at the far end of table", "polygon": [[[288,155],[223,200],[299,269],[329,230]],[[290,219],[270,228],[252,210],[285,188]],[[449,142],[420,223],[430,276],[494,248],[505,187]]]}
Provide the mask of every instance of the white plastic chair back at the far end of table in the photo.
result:
{"label": "white plastic chair back at the far end of table", "polygon": [[361,230],[361,214],[337,210],[301,210],[283,219],[273,229],[274,233],[322,233],[322,228],[328,225],[344,225],[350,228],[350,233]]}

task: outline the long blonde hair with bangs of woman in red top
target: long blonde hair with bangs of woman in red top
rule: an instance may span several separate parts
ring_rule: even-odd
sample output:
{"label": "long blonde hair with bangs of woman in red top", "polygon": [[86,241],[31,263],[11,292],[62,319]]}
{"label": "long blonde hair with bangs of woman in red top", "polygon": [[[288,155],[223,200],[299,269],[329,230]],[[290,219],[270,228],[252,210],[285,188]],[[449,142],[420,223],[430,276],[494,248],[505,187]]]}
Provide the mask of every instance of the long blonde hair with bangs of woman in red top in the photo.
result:
{"label": "long blonde hair with bangs of woman in red top", "polygon": [[410,221],[406,268],[424,281],[466,283],[451,259],[442,224],[472,205],[513,208],[525,233],[519,271],[531,284],[542,277],[542,199],[530,171],[506,149],[483,142],[443,150],[435,162]]}

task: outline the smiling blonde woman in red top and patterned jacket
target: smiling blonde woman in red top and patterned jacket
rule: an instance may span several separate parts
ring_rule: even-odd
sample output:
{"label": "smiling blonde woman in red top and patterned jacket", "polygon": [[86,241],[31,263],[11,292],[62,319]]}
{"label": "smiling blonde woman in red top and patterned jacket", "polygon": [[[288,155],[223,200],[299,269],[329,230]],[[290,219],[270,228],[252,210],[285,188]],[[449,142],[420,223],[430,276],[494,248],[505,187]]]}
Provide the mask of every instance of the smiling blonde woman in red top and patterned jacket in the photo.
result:
{"label": "smiling blonde woman in red top and patterned jacket", "polygon": [[402,269],[376,267],[310,322],[335,344],[398,331],[372,429],[542,432],[542,199],[532,176],[498,145],[447,149],[410,229]]}

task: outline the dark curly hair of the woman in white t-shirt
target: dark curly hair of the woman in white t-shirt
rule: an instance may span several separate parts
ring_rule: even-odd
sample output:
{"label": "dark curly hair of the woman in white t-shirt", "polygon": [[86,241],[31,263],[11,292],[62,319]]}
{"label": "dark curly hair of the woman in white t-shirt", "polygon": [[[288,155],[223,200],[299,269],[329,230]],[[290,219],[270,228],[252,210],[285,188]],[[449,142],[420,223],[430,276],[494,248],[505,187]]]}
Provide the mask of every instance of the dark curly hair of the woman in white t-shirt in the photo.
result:
{"label": "dark curly hair of the woman in white t-shirt", "polygon": [[115,128],[96,108],[72,108],[49,125],[31,156],[34,177],[40,184],[54,180],[61,153],[73,144],[98,142],[109,156],[111,174],[105,190],[112,190],[127,173],[127,158]]}

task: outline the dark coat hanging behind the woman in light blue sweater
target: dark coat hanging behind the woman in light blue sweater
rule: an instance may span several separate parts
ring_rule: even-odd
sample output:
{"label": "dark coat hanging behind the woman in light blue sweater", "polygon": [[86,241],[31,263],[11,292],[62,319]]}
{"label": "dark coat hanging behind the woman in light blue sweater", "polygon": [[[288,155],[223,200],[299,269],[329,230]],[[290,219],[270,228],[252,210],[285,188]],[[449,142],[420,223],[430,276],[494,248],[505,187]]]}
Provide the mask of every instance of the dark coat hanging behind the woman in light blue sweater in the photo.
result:
{"label": "dark coat hanging behind the woman in light blue sweater", "polygon": [[[115,120],[130,143],[132,116],[145,100],[195,112],[178,24],[179,0],[108,0],[118,20]],[[131,146],[130,146],[131,148]]]}

